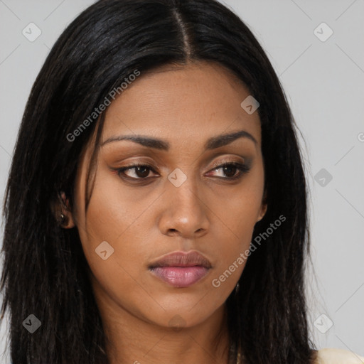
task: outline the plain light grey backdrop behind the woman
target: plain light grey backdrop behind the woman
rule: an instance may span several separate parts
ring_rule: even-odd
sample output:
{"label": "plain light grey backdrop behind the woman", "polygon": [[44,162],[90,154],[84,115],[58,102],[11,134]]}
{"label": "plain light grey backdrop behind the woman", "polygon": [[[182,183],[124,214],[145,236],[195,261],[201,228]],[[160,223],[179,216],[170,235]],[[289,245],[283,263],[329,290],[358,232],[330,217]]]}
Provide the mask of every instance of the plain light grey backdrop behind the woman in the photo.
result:
{"label": "plain light grey backdrop behind the woman", "polygon": [[[0,0],[1,200],[31,85],[65,26],[92,2]],[[312,204],[311,336],[319,348],[364,355],[364,0],[225,4],[266,50],[303,135]],[[33,42],[22,33],[31,22],[42,32]],[[323,22],[333,31],[325,41],[318,38],[329,35]],[[1,351],[7,331],[1,326]]]}

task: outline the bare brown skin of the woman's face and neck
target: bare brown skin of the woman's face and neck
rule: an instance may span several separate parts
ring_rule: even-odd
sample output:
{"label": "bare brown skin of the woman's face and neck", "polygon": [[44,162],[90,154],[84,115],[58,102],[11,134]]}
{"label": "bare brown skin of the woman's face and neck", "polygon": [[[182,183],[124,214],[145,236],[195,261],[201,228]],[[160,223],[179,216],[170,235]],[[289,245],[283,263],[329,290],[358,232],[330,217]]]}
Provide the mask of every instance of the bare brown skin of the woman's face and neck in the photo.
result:
{"label": "bare brown skin of the woman's face and neck", "polygon": [[[125,140],[103,145],[86,212],[93,141],[87,144],[75,183],[75,205],[63,213],[69,220],[65,228],[77,226],[90,265],[111,364],[228,363],[225,301],[245,262],[220,287],[213,287],[212,281],[250,247],[255,223],[267,210],[259,116],[240,107],[248,95],[228,70],[212,63],[140,75],[108,107],[102,142],[142,134],[168,141],[170,149]],[[241,137],[205,151],[210,137],[240,130],[257,144]],[[239,171],[224,173],[213,166],[226,161],[250,161],[250,171],[229,182]],[[112,171],[135,162],[150,164],[156,172],[124,171],[129,178],[139,178],[133,183]],[[187,178],[179,187],[167,178],[175,168]],[[141,180],[144,176],[148,182]],[[114,248],[106,260],[95,253],[103,241]],[[190,250],[212,264],[196,284],[172,287],[149,272],[148,265],[159,257]]]}

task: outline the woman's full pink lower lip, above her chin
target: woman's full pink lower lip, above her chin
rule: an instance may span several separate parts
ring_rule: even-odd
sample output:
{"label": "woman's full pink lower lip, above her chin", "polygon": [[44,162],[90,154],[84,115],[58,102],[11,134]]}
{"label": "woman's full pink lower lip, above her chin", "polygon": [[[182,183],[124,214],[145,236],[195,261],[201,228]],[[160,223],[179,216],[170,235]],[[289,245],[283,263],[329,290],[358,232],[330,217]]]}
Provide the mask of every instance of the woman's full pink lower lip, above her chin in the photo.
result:
{"label": "woman's full pink lower lip, above her chin", "polygon": [[208,268],[194,267],[154,267],[150,269],[157,277],[173,287],[188,287],[198,282],[208,273]]}

